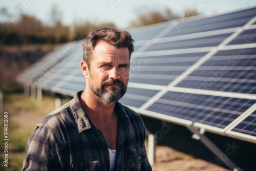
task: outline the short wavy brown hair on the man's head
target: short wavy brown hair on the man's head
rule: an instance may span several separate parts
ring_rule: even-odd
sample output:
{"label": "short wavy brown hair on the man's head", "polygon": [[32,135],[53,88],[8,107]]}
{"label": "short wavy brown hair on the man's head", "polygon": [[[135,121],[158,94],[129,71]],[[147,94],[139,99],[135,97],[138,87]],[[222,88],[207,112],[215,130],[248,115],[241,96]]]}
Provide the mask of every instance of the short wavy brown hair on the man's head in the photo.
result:
{"label": "short wavy brown hair on the man's head", "polygon": [[134,40],[132,39],[131,34],[124,30],[104,27],[90,32],[86,41],[84,41],[83,60],[87,63],[88,67],[90,67],[92,51],[96,47],[98,40],[104,40],[117,48],[128,48],[131,59],[131,54],[134,51]]}

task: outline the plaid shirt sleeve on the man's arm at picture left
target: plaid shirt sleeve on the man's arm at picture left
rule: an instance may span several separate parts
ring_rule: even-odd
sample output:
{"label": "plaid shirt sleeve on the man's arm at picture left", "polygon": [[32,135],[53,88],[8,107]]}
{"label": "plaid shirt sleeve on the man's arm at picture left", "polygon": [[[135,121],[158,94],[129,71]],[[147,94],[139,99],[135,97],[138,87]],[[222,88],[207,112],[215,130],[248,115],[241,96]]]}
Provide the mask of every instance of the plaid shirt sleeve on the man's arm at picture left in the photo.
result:
{"label": "plaid shirt sleeve on the man's arm at picture left", "polygon": [[50,127],[37,126],[27,144],[22,170],[65,170],[65,144]]}

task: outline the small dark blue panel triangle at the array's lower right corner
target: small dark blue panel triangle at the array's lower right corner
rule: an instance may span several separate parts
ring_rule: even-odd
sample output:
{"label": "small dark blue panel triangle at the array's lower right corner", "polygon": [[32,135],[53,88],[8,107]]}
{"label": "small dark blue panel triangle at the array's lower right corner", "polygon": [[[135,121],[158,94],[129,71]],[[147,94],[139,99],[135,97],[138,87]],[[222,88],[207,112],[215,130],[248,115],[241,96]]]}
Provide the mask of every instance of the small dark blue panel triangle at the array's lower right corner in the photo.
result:
{"label": "small dark blue panel triangle at the array's lower right corner", "polygon": [[234,127],[232,131],[256,136],[256,111],[252,112],[252,114]]}

